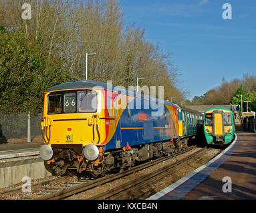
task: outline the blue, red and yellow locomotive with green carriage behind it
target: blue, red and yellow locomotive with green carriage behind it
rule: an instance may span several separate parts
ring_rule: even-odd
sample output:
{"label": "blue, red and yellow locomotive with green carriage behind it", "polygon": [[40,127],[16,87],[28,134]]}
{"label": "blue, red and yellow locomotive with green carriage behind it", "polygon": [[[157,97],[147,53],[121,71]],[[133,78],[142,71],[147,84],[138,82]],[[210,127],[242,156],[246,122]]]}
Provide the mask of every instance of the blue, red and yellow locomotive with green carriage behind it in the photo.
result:
{"label": "blue, red and yellow locomotive with green carriage behind it", "polygon": [[106,83],[73,80],[44,94],[40,156],[57,176],[123,170],[203,131],[197,111]]}

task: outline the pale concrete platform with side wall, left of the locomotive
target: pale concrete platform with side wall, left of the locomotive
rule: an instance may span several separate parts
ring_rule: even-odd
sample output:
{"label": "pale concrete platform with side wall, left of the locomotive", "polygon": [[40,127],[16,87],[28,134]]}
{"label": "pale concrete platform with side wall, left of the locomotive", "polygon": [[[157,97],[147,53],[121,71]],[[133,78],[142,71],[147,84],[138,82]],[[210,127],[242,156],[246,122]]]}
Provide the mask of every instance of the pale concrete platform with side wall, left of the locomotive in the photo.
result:
{"label": "pale concrete platform with side wall, left of the locomotive", "polygon": [[24,176],[31,180],[51,176],[39,156],[43,142],[0,144],[0,188],[13,187]]}

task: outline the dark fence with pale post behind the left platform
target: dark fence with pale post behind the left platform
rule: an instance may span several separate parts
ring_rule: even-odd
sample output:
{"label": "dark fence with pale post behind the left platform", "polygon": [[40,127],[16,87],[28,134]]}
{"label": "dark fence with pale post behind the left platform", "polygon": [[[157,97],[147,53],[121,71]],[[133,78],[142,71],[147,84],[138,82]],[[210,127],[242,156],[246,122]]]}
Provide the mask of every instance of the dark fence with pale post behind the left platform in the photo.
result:
{"label": "dark fence with pale post behind the left platform", "polygon": [[19,114],[3,114],[0,112],[0,144],[43,141],[42,116],[42,113],[30,116],[30,112]]}

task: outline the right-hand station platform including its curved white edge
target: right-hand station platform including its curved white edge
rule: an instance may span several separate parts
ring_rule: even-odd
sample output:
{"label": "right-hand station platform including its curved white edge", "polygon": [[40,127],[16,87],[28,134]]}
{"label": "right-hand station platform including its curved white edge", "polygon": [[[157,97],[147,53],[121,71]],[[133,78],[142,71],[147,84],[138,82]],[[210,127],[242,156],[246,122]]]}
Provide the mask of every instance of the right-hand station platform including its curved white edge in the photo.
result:
{"label": "right-hand station platform including its curved white edge", "polygon": [[256,134],[236,132],[232,144],[148,200],[256,199]]}

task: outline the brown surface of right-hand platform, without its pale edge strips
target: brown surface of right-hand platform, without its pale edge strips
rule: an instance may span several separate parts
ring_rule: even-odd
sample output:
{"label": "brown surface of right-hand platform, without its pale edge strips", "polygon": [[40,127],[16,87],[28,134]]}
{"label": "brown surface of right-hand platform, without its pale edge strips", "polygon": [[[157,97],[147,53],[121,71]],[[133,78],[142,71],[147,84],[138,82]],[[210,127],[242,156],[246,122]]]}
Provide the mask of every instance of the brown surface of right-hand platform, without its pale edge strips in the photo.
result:
{"label": "brown surface of right-hand platform, without its pale edge strips", "polygon": [[[182,199],[256,199],[256,134],[237,136],[239,146],[229,159]],[[223,192],[224,177],[231,178],[231,192]]]}

